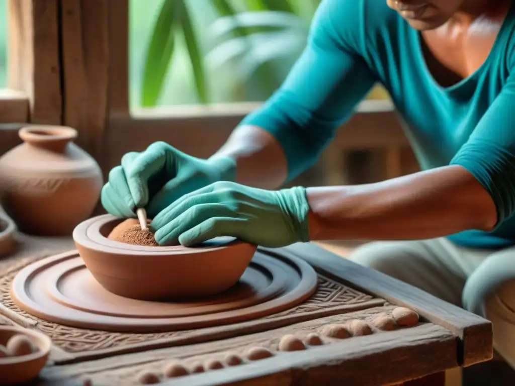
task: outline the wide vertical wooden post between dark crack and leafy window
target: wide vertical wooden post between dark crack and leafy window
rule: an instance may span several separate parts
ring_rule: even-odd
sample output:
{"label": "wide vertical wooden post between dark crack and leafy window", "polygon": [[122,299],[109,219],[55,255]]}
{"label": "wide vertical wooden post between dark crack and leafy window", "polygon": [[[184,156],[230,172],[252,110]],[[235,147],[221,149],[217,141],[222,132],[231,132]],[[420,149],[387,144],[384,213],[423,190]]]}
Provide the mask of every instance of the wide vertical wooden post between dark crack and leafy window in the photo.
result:
{"label": "wide vertical wooden post between dark crack and leafy window", "polygon": [[59,0],[61,7],[63,123],[101,165],[109,97],[108,0]]}

